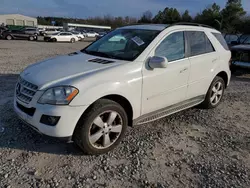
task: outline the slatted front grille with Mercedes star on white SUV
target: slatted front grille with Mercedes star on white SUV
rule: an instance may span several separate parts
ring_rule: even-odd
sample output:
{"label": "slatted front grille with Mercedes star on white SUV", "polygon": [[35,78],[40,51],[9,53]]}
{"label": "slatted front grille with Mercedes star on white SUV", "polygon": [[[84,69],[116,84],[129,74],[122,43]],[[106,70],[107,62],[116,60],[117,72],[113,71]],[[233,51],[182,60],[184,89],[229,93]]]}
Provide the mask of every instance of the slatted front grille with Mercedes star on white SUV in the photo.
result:
{"label": "slatted front grille with Mercedes star on white SUV", "polygon": [[16,86],[16,97],[24,103],[29,103],[36,94],[38,87],[26,80],[19,78]]}

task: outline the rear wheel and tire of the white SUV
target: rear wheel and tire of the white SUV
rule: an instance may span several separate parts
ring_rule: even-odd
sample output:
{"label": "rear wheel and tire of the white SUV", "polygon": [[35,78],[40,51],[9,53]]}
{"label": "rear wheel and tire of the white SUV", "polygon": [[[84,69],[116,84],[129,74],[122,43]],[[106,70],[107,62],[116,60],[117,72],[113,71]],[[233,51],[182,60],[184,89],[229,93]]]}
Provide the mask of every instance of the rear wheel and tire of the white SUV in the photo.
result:
{"label": "rear wheel and tire of the white SUV", "polygon": [[216,76],[208,89],[205,100],[201,103],[200,107],[204,109],[217,107],[221,103],[224,91],[224,80],[221,77]]}

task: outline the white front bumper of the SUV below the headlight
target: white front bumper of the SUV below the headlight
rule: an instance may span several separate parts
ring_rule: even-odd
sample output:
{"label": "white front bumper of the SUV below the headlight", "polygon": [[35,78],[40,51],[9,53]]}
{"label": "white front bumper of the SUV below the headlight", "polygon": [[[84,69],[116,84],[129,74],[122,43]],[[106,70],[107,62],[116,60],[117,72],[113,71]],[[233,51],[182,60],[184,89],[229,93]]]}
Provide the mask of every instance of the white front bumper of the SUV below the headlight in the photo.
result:
{"label": "white front bumper of the SUV below the headlight", "polygon": [[[78,120],[87,109],[87,106],[58,106],[36,103],[36,105],[32,106],[32,108],[35,108],[34,114],[28,115],[17,106],[17,102],[26,108],[30,108],[30,106],[15,97],[14,110],[24,122],[39,133],[58,138],[71,137]],[[40,123],[42,115],[60,116],[60,120],[55,126],[49,126]]]}

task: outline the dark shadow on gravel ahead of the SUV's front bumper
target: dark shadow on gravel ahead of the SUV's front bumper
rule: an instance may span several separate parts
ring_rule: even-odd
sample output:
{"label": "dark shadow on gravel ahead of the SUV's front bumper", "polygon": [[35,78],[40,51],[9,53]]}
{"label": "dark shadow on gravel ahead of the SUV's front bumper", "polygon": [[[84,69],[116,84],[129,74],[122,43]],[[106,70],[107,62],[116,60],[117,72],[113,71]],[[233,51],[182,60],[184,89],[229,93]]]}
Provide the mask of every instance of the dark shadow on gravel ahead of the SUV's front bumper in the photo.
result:
{"label": "dark shadow on gravel ahead of the SUV's front bumper", "polygon": [[41,135],[23,123],[13,110],[18,74],[0,74],[0,148],[59,155],[83,155],[73,143]]}

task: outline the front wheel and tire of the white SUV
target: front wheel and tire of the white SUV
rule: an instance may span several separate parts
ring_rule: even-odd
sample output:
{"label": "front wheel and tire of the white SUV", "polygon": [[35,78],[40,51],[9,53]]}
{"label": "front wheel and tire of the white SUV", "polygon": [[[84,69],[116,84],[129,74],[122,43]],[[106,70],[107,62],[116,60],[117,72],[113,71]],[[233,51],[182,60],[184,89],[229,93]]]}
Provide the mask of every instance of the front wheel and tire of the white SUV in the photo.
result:
{"label": "front wheel and tire of the white SUV", "polygon": [[123,139],[127,125],[127,114],[118,103],[100,99],[82,115],[73,140],[86,154],[107,153]]}

